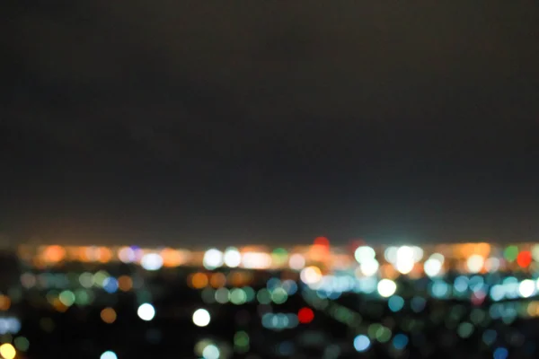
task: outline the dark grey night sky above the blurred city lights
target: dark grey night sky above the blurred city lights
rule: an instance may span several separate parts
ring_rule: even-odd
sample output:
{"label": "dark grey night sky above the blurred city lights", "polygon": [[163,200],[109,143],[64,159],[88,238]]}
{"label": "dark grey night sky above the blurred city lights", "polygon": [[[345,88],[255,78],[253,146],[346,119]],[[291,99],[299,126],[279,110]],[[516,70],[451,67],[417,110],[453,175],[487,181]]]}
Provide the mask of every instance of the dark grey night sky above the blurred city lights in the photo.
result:
{"label": "dark grey night sky above the blurred city lights", "polygon": [[17,241],[539,238],[536,1],[7,3]]}

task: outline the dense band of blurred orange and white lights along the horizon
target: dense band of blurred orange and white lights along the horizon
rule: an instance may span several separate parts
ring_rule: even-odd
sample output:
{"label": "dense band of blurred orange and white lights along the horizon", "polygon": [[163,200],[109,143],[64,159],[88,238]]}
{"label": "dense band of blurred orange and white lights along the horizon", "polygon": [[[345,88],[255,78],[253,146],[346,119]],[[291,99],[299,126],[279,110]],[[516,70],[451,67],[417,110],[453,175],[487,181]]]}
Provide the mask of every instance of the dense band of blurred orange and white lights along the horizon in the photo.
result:
{"label": "dense band of blurred orange and white lights along the horizon", "polygon": [[[288,268],[296,271],[308,266],[328,269],[357,265],[358,276],[443,276],[448,269],[466,273],[494,273],[505,269],[529,269],[539,261],[539,245],[524,243],[498,247],[489,243],[459,243],[430,246],[368,246],[348,249],[331,247],[323,237],[313,245],[290,250],[267,250],[245,247],[211,248],[202,252],[192,250],[141,249],[136,246],[110,249],[107,247],[43,246],[31,250],[22,246],[23,259],[35,266],[54,265],[65,261],[108,263],[121,261],[140,265],[148,271],[163,267],[219,267],[270,269]],[[451,261],[446,260],[447,258]],[[351,259],[351,260],[350,260]]]}

